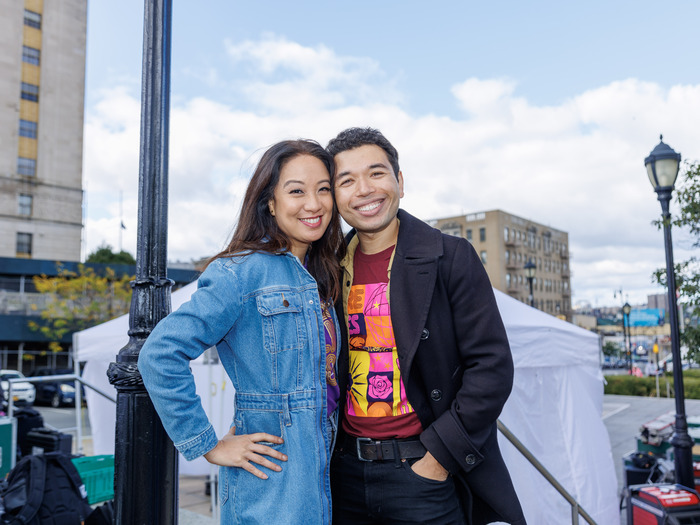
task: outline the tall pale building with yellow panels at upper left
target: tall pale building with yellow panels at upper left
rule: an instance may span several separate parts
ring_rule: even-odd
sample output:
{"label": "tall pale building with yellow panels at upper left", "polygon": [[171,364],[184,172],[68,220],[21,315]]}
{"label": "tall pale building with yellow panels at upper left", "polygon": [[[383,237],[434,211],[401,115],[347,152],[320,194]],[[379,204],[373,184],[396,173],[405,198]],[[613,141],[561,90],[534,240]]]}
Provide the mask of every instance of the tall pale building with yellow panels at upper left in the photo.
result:
{"label": "tall pale building with yellow panels at upper left", "polygon": [[87,0],[0,12],[0,257],[78,261]]}

